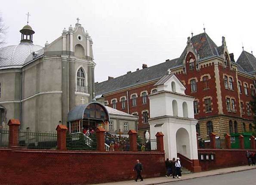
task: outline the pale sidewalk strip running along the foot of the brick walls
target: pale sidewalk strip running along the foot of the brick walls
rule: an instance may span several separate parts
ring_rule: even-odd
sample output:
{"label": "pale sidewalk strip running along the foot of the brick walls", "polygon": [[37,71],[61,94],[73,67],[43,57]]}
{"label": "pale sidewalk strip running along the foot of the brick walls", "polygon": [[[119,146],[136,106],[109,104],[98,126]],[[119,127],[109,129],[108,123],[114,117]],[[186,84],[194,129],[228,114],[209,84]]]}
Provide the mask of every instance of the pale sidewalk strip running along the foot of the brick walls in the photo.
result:
{"label": "pale sidewalk strip running along the foot of the brick walls", "polygon": [[239,167],[230,167],[230,168],[222,168],[217,170],[210,170],[210,171],[204,171],[204,172],[198,172],[198,173],[189,173],[182,175],[181,179],[173,179],[172,177],[155,177],[155,178],[148,178],[144,179],[143,181],[135,182],[134,180],[129,181],[121,181],[121,182],[108,182],[108,183],[101,183],[97,185],[156,185],[166,182],[174,182],[174,181],[181,181],[186,179],[195,179],[199,177],[205,177],[205,176],[215,176],[225,173],[232,173],[232,172],[239,172],[244,170],[252,170],[256,169],[256,166],[239,166]]}

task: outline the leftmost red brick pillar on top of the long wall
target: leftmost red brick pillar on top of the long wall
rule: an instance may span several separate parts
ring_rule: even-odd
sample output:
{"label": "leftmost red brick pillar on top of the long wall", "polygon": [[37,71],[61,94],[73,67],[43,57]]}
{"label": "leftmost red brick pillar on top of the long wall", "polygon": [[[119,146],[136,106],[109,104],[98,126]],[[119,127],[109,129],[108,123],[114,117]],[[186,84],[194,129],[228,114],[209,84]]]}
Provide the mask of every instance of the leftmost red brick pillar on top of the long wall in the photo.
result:
{"label": "leftmost red brick pillar on top of the long wall", "polygon": [[19,120],[9,120],[9,146],[18,146],[19,143]]}

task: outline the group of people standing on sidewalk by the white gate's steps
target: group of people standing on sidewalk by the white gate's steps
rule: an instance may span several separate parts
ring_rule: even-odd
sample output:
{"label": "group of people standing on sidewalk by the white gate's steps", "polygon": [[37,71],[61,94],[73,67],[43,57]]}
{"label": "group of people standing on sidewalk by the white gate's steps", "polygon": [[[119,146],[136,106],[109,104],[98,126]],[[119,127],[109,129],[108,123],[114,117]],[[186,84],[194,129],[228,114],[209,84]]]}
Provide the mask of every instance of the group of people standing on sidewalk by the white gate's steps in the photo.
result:
{"label": "group of people standing on sidewalk by the white gate's steps", "polygon": [[172,160],[169,160],[168,158],[165,161],[165,167],[166,167],[166,174],[165,176],[173,176],[173,178],[181,178],[181,163],[179,157],[177,159],[173,158]]}

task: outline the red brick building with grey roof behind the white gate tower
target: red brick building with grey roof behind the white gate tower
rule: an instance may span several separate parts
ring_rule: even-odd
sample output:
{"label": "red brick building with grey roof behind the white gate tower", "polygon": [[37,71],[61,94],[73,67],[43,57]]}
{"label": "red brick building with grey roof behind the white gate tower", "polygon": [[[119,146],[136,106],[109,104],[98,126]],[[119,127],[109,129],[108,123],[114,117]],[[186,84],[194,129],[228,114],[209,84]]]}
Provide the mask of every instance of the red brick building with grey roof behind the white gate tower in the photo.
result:
{"label": "red brick building with grey roof behind the white gate tower", "polygon": [[[167,71],[168,70],[168,71]],[[243,133],[253,129],[250,109],[251,94],[255,94],[256,58],[242,51],[234,61],[225,37],[217,46],[206,33],[188,37],[187,46],[177,59],[96,83],[97,97],[105,105],[139,116],[140,136],[149,130],[150,105],[148,94],[154,93],[163,75],[175,73],[186,86],[185,93],[194,96],[194,117],[199,120],[197,132],[203,138],[215,132]]]}

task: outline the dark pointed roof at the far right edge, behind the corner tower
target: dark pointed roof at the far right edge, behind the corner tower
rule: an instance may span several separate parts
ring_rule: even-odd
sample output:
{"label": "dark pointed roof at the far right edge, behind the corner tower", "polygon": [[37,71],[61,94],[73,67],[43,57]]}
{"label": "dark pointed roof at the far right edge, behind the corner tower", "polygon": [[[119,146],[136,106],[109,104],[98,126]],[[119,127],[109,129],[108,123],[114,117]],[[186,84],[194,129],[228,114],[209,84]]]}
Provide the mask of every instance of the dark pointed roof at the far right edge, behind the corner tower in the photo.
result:
{"label": "dark pointed roof at the far right edge, behind the corner tower", "polygon": [[246,72],[256,71],[256,58],[249,52],[242,51],[236,63]]}

